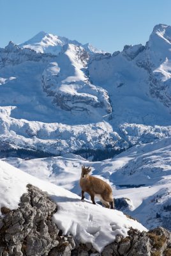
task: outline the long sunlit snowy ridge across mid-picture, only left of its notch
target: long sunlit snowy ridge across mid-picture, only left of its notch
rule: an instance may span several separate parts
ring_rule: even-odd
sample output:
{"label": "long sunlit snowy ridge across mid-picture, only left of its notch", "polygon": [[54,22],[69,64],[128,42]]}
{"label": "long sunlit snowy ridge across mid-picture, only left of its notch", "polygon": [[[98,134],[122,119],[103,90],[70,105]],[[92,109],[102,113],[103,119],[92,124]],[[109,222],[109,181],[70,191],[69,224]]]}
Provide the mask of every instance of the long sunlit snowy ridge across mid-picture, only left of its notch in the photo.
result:
{"label": "long sunlit snowy ridge across mid-picture, only left of its notch", "polygon": [[11,145],[61,154],[81,148],[119,147],[123,143],[107,122],[64,125],[17,120],[9,116],[13,108],[0,108],[0,140]]}

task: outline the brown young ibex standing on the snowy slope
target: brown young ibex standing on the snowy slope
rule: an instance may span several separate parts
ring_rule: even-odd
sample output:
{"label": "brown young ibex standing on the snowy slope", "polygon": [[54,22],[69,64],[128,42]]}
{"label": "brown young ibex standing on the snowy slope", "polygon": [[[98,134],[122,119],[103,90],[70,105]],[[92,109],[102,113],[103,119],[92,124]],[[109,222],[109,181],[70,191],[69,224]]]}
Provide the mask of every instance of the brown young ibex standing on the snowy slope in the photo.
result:
{"label": "brown young ibex standing on the snowy slope", "polygon": [[94,196],[97,196],[105,207],[109,208],[111,206],[111,209],[114,209],[112,188],[110,188],[107,182],[90,176],[89,172],[91,172],[91,168],[85,168],[85,166],[82,166],[82,173],[80,177],[80,187],[82,189],[81,199],[84,200],[84,192],[87,192],[91,196],[93,204],[96,204]]}

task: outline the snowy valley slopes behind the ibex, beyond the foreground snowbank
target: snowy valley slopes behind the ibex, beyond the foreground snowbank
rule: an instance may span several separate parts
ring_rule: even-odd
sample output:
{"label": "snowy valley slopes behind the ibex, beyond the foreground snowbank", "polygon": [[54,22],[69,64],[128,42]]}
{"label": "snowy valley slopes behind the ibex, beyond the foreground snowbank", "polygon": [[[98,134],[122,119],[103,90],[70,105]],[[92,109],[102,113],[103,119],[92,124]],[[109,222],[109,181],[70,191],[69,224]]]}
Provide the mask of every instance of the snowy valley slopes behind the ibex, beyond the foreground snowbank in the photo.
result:
{"label": "snowy valley slopes behind the ibex, beyond the foreground snowbank", "polygon": [[[158,225],[171,230],[171,139],[131,147],[119,156],[90,162],[72,155],[43,159],[8,158],[8,163],[43,180],[81,194],[78,180],[82,164],[92,174],[110,182],[115,198],[129,198],[125,211],[147,228]],[[124,208],[123,208],[124,209]]]}

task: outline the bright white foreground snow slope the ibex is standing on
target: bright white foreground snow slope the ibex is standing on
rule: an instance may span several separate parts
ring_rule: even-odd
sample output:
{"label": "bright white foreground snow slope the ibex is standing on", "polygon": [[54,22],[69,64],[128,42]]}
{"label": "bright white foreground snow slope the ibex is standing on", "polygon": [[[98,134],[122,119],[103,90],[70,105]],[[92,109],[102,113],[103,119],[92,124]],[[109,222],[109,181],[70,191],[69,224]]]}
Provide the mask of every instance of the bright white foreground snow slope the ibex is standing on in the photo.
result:
{"label": "bright white foreground snow slope the ibex is standing on", "polygon": [[140,223],[127,218],[123,212],[105,209],[89,201],[82,202],[80,197],[66,189],[36,179],[0,161],[0,207],[17,209],[20,196],[27,192],[26,185],[33,184],[47,191],[58,207],[53,216],[57,227],[64,234],[70,232],[82,243],[92,243],[99,252],[114,241],[117,234],[126,237],[130,227],[146,230]]}

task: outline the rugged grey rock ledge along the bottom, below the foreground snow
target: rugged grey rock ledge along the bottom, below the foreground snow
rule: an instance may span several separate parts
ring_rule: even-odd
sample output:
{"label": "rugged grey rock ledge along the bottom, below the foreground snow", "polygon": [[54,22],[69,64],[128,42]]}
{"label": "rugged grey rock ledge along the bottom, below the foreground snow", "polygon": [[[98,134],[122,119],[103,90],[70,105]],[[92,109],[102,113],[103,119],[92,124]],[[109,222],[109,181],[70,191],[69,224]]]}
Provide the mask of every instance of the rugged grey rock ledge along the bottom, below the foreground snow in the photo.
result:
{"label": "rugged grey rock ledge along the bottom, below the foreground snow", "polygon": [[170,256],[171,233],[159,227],[149,232],[131,229],[128,237],[117,236],[98,253],[91,244],[80,244],[70,234],[63,235],[52,221],[57,205],[47,193],[27,185],[19,209],[1,208],[0,256]]}

